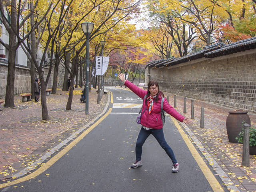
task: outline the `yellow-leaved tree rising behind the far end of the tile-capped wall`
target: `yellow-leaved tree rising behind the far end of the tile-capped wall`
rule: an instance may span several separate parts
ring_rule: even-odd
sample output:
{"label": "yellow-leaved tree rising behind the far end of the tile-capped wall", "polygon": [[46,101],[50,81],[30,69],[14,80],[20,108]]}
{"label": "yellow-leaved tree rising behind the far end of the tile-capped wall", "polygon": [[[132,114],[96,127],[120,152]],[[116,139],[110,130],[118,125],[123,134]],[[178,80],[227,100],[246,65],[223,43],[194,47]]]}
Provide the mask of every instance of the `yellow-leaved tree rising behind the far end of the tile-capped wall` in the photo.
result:
{"label": "yellow-leaved tree rising behind the far end of the tile-capped wall", "polygon": [[[173,10],[170,8],[172,5]],[[177,48],[179,55],[182,57],[188,54],[188,47],[191,42],[197,37],[194,27],[188,22],[182,21],[179,16],[186,15],[186,10],[176,10],[174,5],[170,3],[166,6],[166,2],[160,1],[159,3],[148,2],[149,15],[152,18],[150,30],[158,32],[158,39],[162,38],[167,41],[162,43],[154,42],[154,46],[162,54],[166,52],[166,55],[170,58],[171,50],[174,46]],[[178,12],[179,11],[179,12]],[[154,33],[153,33],[154,34]],[[162,44],[158,47],[157,45]],[[164,56],[164,55],[163,55]],[[162,56],[162,58],[164,58]]]}

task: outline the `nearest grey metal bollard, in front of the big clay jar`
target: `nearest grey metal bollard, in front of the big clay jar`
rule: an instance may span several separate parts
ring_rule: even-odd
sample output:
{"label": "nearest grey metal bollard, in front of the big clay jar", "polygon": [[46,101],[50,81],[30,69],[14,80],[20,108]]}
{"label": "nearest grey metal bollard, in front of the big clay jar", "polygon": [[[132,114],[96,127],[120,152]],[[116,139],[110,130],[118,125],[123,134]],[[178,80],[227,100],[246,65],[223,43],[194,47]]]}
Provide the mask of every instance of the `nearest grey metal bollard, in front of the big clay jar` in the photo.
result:
{"label": "nearest grey metal bollard, in front of the big clay jar", "polygon": [[249,130],[250,125],[244,124],[244,139],[243,139],[243,156],[242,166],[250,167],[250,148],[249,148]]}

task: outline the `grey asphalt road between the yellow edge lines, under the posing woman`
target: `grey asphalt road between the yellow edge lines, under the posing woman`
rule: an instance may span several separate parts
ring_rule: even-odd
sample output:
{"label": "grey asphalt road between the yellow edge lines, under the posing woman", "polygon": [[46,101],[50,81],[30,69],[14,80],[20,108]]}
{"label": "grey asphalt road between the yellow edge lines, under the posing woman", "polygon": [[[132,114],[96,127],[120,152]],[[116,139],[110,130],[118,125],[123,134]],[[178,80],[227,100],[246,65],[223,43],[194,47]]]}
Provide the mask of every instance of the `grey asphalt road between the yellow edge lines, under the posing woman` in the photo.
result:
{"label": "grey asphalt road between the yellow edge lines, under the posing woman", "polygon": [[143,166],[130,168],[135,161],[136,138],[140,130],[135,120],[142,99],[130,91],[109,90],[114,98],[114,104],[110,104],[112,111],[98,126],[42,174],[0,191],[213,191],[169,117],[164,134],[180,164],[180,172],[171,172],[172,162],[153,136],[143,146]]}

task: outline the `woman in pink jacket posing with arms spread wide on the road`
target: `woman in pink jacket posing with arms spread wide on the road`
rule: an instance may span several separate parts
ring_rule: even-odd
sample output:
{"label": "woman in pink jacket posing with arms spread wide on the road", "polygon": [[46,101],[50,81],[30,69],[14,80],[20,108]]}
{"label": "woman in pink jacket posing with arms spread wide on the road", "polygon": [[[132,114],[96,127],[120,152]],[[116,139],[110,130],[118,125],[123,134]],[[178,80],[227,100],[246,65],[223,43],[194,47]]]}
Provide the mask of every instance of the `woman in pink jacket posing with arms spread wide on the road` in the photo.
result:
{"label": "woman in pink jacket posing with arms spread wide on the road", "polygon": [[[172,172],[177,173],[179,171],[179,164],[174,156],[172,148],[170,148],[170,146],[167,144],[164,138],[164,132],[162,129],[163,122],[161,118],[161,99],[162,97],[164,97],[164,94],[162,91],[159,90],[158,83],[154,80],[150,81],[148,83],[148,90],[146,91],[142,90],[141,88],[138,88],[130,81],[125,80],[124,74],[120,73],[118,74],[118,77],[122,82],[124,82],[125,86],[127,86],[130,90],[132,90],[132,92],[134,92],[140,98],[143,99],[144,96],[146,95],[146,99],[143,101],[142,104],[143,114],[140,119],[140,124],[142,125],[142,128],[140,130],[136,142],[136,161],[134,164],[132,164],[132,168],[142,166],[142,146],[146,139],[148,138],[148,136],[152,134],[172,160]],[[191,120],[185,118],[184,116],[179,114],[172,106],[170,106],[166,98],[164,98],[163,109],[165,112],[167,112],[180,122],[184,122],[186,125],[192,123]]]}

